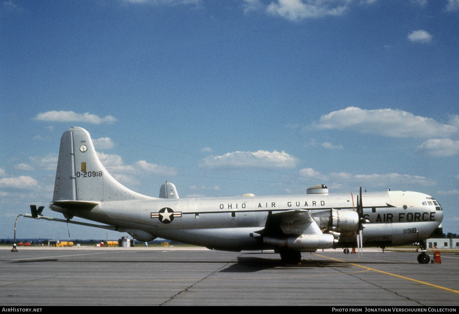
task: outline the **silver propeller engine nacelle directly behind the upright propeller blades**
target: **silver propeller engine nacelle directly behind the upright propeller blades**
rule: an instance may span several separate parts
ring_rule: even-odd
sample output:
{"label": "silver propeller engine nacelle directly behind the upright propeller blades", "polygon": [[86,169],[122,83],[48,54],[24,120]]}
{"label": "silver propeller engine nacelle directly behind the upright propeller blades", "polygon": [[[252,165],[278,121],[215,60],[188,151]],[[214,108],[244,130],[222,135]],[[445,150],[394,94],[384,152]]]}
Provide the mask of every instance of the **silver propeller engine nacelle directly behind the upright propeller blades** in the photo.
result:
{"label": "silver propeller engine nacelle directly behind the upright propeller blades", "polygon": [[350,209],[334,208],[318,213],[311,213],[320,230],[333,231],[340,234],[352,234],[358,230],[358,213]]}

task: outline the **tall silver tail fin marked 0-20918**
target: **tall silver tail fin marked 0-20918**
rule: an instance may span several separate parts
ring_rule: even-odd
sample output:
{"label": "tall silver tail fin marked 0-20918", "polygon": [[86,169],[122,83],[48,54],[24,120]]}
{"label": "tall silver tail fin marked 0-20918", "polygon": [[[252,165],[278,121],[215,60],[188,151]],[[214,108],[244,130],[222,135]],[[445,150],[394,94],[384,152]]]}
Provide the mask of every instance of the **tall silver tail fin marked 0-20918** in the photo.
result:
{"label": "tall silver tail fin marked 0-20918", "polygon": [[91,137],[83,128],[64,132],[59,149],[53,202],[121,201],[150,199],[115,180],[95,153]]}

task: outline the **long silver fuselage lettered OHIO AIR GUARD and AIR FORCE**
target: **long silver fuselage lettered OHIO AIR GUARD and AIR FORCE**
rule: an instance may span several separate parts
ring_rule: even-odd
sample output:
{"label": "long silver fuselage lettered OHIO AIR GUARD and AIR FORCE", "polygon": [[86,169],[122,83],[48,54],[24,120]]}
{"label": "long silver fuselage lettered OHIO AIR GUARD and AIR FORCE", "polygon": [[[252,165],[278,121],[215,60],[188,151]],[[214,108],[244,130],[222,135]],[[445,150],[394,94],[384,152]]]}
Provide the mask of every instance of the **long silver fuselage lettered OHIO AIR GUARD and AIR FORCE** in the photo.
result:
{"label": "long silver fuselage lettered OHIO AIR GUARD and AIR FORCE", "polygon": [[[57,206],[52,210],[84,219],[134,230],[139,240],[160,237],[168,240],[240,251],[267,248],[257,237],[269,214],[294,209],[314,212],[352,210],[356,200],[351,193],[306,194],[285,196],[240,196],[218,198],[145,198],[100,202],[90,210],[69,213]],[[425,239],[442,222],[440,206],[428,205],[431,196],[418,192],[387,191],[363,193],[364,246],[403,245]],[[423,205],[425,203],[426,205]],[[161,209],[168,208],[167,219],[160,219]],[[170,213],[171,210],[173,214]],[[145,232],[139,233],[135,230]],[[353,236],[340,237],[336,247],[352,246]]]}

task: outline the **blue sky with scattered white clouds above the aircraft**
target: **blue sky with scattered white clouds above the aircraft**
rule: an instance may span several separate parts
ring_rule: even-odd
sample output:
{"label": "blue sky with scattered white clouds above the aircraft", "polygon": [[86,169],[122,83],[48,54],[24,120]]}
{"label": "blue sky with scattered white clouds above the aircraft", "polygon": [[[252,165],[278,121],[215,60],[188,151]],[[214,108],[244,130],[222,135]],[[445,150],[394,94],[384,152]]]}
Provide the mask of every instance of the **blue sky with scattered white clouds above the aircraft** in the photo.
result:
{"label": "blue sky with scattered white clouds above the aircraft", "polygon": [[458,0],[11,0],[0,19],[0,238],[51,201],[71,126],[143,194],[419,191],[459,233]]}

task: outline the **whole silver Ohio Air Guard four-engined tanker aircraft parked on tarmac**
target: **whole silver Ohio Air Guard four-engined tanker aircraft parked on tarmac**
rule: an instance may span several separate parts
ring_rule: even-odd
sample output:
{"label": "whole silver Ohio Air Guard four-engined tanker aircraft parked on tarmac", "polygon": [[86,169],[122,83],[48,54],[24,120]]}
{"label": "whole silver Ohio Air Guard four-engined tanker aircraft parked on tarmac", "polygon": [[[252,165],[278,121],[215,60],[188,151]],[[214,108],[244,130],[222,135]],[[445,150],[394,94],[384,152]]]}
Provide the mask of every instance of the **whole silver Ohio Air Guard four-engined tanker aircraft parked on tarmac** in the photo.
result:
{"label": "whole silver Ohio Air Guard four-engined tanker aircraft parked on tarmac", "polygon": [[[23,216],[127,232],[139,241],[156,237],[236,251],[274,249],[285,262],[301,252],[341,247],[387,247],[420,243],[441,224],[442,207],[429,195],[407,191],[328,193],[325,185],[305,195],[179,198],[172,183],[159,197],[145,196],[116,181],[102,166],[89,133],[68,129],[61,139],[50,209],[31,205]],[[72,220],[74,217],[101,224]],[[348,250],[347,250],[348,252]],[[428,263],[422,252],[418,261]]]}

